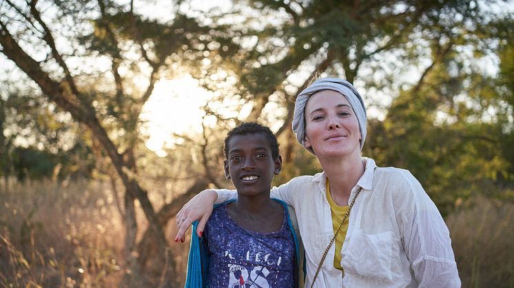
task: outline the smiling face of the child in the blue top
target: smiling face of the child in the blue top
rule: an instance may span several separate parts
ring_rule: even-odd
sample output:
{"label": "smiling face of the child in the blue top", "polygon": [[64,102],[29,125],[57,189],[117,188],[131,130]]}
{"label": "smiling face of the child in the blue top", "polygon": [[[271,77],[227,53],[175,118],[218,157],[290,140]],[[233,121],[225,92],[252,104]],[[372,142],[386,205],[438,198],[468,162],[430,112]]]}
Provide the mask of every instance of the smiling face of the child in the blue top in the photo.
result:
{"label": "smiling face of the child in the blue top", "polygon": [[234,135],[227,146],[225,176],[232,179],[238,193],[253,196],[269,192],[271,180],[282,168],[282,158],[273,159],[266,135]]}

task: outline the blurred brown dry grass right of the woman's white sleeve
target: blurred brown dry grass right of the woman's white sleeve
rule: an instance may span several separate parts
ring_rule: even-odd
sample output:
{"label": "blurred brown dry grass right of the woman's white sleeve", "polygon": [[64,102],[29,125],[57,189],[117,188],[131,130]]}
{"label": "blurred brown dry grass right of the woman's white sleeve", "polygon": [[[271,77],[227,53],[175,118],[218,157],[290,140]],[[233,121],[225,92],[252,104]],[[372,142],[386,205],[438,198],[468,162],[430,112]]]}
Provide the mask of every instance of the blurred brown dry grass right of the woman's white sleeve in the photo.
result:
{"label": "blurred brown dry grass right of the woman's white sleeve", "polygon": [[446,217],[462,287],[514,287],[514,204],[472,199]]}

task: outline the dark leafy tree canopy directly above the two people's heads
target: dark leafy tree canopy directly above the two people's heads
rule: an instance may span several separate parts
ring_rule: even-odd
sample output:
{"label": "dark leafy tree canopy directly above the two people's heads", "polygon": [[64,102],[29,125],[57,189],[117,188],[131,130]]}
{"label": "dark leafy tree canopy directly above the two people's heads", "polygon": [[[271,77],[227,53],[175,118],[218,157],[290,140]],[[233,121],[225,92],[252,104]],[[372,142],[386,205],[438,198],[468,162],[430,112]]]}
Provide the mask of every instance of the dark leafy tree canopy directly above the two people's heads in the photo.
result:
{"label": "dark leafy tree canopy directly above the two people's heads", "polygon": [[[427,54],[436,48],[428,43],[444,41],[438,31],[459,34],[480,19],[496,17],[482,9],[489,1],[481,5],[471,1],[236,3],[236,12],[228,16],[209,15],[218,20],[211,25],[214,32],[198,38],[188,50],[190,58],[207,60],[191,65],[196,67],[192,73],[218,96],[213,103],[232,98],[243,103],[236,110],[251,107],[247,115],[227,117],[219,112],[223,105],[219,109],[218,104],[208,104],[206,113],[217,123],[234,126],[242,120],[260,120],[276,126],[282,122],[278,135],[289,131],[294,96],[313,78],[328,74],[357,80],[367,89],[375,87],[372,91],[397,93],[407,82],[401,76],[426,60],[440,60]],[[269,113],[270,107],[280,107],[278,117]],[[288,143],[284,154],[293,155],[294,135],[287,132],[282,137]]]}

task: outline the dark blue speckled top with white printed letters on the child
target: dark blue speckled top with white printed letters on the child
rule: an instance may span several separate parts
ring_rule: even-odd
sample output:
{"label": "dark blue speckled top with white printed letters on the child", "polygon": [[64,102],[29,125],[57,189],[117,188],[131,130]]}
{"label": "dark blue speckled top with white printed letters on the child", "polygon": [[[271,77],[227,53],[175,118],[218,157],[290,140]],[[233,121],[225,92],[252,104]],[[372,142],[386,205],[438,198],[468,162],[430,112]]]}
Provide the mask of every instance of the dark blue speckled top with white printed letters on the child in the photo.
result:
{"label": "dark blue speckled top with white printed letters on the child", "polygon": [[240,227],[227,204],[214,208],[205,228],[209,247],[209,287],[294,287],[295,246],[284,210],[276,232]]}

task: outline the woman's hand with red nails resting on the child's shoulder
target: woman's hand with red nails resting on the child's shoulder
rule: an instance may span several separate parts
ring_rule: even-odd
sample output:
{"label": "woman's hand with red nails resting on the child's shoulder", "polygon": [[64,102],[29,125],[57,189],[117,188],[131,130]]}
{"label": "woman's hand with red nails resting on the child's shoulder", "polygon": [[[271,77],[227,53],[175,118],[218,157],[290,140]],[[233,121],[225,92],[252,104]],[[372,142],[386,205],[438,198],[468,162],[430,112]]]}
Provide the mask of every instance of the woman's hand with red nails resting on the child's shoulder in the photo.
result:
{"label": "woman's hand with red nails resting on the child's shoulder", "polygon": [[198,227],[196,228],[196,234],[201,237],[207,219],[212,214],[214,201],[218,199],[218,194],[214,190],[203,190],[198,193],[195,197],[189,200],[176,214],[176,227],[178,232],[175,237],[175,242],[184,242],[185,232],[189,230],[192,223],[198,221]]}

